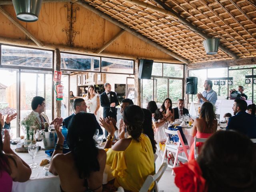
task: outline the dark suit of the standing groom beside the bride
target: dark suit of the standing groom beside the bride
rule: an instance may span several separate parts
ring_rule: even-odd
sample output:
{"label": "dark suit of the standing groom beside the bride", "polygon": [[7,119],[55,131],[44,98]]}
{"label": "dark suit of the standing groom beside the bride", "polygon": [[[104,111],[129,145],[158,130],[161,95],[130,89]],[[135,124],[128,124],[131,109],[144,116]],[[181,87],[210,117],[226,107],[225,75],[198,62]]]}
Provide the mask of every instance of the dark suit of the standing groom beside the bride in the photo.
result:
{"label": "dark suit of the standing groom beside the bride", "polygon": [[115,92],[110,92],[110,101],[108,99],[107,93],[104,92],[100,94],[100,105],[103,107],[103,117],[108,116],[113,117],[116,120],[116,107],[110,107],[110,103],[115,103],[118,106],[118,100]]}

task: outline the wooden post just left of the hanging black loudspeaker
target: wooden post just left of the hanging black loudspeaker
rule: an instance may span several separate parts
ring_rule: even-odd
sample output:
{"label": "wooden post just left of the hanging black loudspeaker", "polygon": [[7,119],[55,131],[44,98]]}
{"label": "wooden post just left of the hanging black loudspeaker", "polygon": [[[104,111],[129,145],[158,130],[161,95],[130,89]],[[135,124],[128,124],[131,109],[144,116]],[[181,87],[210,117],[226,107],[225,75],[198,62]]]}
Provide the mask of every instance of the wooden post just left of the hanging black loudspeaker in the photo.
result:
{"label": "wooden post just left of the hanging black loudspeaker", "polygon": [[141,84],[140,79],[138,78],[139,72],[139,60],[136,59],[134,63],[134,104],[141,106]]}

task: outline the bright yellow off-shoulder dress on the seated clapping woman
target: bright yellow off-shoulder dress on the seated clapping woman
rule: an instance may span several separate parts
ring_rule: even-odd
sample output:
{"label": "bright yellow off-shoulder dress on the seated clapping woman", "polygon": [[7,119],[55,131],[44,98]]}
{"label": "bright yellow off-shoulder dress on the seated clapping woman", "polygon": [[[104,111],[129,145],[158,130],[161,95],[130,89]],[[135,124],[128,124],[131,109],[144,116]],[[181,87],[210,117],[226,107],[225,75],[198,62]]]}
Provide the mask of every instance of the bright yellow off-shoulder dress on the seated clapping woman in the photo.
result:
{"label": "bright yellow off-shoulder dress on the seated clapping woman", "polygon": [[[110,166],[114,185],[138,192],[147,176],[154,174],[154,154],[150,139],[141,134],[140,142],[132,139],[124,151],[107,149],[106,166]],[[152,184],[153,187],[153,184]],[[152,188],[151,187],[151,188]]]}

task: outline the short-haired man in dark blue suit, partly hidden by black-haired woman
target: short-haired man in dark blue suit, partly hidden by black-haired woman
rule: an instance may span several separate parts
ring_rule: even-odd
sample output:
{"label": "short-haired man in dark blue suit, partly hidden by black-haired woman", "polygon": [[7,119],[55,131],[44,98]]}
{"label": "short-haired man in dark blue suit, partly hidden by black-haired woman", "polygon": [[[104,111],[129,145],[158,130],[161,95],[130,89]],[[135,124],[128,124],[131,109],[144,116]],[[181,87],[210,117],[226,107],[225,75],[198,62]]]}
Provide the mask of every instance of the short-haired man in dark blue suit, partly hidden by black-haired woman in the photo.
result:
{"label": "short-haired man in dark blue suit, partly hidden by black-haired woman", "polygon": [[[74,106],[75,112],[72,115],[68,116],[66,119],[64,119],[64,122],[65,122],[65,125],[67,128],[69,128],[69,122],[72,119],[72,117],[75,116],[75,114],[78,114],[79,112],[87,112],[86,111],[86,108],[87,108],[86,103],[85,103],[84,99],[82,99],[82,98],[75,99],[73,102],[73,106]],[[100,124],[96,120],[95,115],[92,113],[88,113],[88,114],[90,114],[92,116],[92,118],[94,119],[95,126],[99,130],[99,134],[103,135],[102,128],[100,127]]]}

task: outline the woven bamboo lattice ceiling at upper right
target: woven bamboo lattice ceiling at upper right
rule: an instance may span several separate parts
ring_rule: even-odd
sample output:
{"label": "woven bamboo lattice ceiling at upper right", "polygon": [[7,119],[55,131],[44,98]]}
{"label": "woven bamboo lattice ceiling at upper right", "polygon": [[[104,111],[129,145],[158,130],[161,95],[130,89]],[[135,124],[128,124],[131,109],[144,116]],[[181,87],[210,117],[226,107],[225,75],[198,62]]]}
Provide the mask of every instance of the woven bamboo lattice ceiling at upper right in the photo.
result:
{"label": "woven bamboo lattice ceiling at upper right", "polygon": [[206,55],[202,34],[178,18],[132,1],[83,0],[189,62],[233,59],[234,56],[224,49],[236,58],[256,56],[256,5],[253,0],[140,0],[162,10],[172,9],[204,35],[220,38],[223,50],[219,48],[216,55]]}

